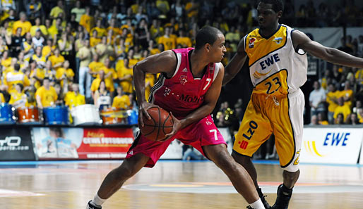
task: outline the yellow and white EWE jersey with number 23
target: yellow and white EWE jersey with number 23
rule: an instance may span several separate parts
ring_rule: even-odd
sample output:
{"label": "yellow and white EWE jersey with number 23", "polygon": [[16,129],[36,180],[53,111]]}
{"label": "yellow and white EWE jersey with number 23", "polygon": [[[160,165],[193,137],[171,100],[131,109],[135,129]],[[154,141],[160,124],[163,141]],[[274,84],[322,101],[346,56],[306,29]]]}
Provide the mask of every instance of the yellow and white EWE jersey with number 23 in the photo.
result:
{"label": "yellow and white EWE jersey with number 23", "polygon": [[292,31],[280,25],[271,37],[262,37],[259,29],[244,37],[254,93],[287,95],[307,81],[307,54],[294,50]]}

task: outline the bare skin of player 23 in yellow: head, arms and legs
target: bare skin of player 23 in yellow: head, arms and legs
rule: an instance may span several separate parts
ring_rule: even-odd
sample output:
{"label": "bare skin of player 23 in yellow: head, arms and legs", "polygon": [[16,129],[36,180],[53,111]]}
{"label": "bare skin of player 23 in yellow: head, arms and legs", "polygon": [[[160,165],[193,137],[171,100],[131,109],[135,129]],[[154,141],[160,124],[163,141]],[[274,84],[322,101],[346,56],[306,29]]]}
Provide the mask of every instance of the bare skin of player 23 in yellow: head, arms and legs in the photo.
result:
{"label": "bare skin of player 23 in yellow: head, arms and legs", "polygon": [[[281,18],[282,11],[275,12],[273,11],[272,4],[260,3],[258,4],[257,12],[258,24],[260,25],[259,33],[263,37],[270,37],[276,32],[276,30],[278,30],[278,20]],[[349,67],[363,68],[362,58],[357,58],[338,49],[326,47],[319,44],[318,42],[314,42],[309,37],[307,37],[304,32],[294,30],[292,32],[292,44],[294,45],[295,50],[303,49],[304,51],[307,51],[307,53],[310,53],[312,56],[316,56],[317,58],[321,58],[330,63],[345,65]],[[241,39],[241,41],[239,42],[237,53],[234,55],[230,63],[225,68],[225,77],[222,81],[223,85],[227,84],[227,82],[230,82],[230,80],[232,80],[232,78],[237,75],[239,70],[241,70],[242,66],[244,65],[246,58],[247,54],[246,51],[244,51],[244,39]],[[246,170],[249,172],[252,179],[254,180],[255,186],[258,187],[256,168],[251,161],[251,157],[241,156],[237,153],[232,153],[232,157],[234,158],[234,160],[236,160],[238,163],[246,168]],[[288,172],[284,170],[284,172],[282,173],[282,177],[284,179],[283,182],[285,186],[291,189],[297,182],[299,174],[299,170],[297,170],[297,172]]]}

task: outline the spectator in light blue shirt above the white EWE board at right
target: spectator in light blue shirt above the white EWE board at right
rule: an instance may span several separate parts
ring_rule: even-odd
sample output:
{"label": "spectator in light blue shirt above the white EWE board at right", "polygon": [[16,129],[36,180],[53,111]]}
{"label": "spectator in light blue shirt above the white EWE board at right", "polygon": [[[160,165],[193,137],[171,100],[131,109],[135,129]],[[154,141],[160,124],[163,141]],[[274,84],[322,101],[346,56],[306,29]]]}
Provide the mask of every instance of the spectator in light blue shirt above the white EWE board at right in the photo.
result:
{"label": "spectator in light blue shirt above the white EWE board at right", "polygon": [[310,115],[318,115],[319,112],[325,111],[324,101],[326,101],[326,93],[323,88],[320,87],[319,81],[314,82],[314,90],[310,92]]}

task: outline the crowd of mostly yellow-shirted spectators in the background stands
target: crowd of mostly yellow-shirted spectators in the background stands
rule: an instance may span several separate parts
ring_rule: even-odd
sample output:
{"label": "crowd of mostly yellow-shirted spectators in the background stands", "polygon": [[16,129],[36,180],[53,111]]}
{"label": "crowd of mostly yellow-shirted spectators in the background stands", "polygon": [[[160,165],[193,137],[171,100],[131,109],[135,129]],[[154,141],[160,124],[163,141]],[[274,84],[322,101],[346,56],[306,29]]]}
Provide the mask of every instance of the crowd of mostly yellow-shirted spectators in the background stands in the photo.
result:
{"label": "crowd of mostly yellow-shirted spectators in the background stands", "polygon": [[[138,61],[167,49],[194,46],[198,29],[212,25],[225,34],[222,63],[227,65],[239,40],[257,26],[257,1],[0,2],[0,99],[13,106],[72,108],[92,103],[100,109],[132,108],[132,68]],[[363,25],[362,8],[353,0],[337,2],[315,8],[314,1],[307,1],[295,11],[296,2],[286,0],[280,23]],[[342,50],[362,56],[362,36],[343,41]],[[312,124],[363,122],[363,69],[331,66],[314,84],[306,116]],[[146,98],[156,79],[146,75]],[[218,126],[236,131],[242,100],[218,104]]]}

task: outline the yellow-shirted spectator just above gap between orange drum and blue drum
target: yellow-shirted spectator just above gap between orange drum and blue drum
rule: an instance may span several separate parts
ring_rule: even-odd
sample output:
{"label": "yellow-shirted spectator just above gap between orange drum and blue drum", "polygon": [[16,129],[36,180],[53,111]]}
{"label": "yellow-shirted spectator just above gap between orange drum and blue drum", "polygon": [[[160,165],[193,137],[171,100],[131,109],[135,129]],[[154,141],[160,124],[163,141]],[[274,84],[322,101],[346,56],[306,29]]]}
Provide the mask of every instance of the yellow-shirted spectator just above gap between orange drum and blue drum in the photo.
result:
{"label": "yellow-shirted spectator just above gap between orange drum and blue drum", "polygon": [[35,92],[38,108],[54,106],[58,95],[54,87],[50,86],[49,78],[44,77],[43,85]]}

